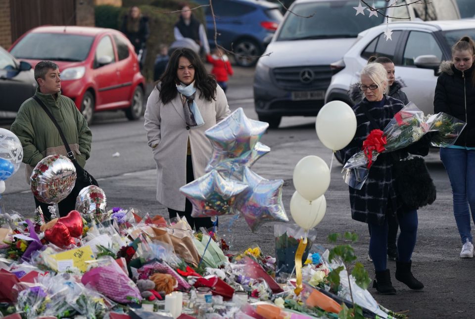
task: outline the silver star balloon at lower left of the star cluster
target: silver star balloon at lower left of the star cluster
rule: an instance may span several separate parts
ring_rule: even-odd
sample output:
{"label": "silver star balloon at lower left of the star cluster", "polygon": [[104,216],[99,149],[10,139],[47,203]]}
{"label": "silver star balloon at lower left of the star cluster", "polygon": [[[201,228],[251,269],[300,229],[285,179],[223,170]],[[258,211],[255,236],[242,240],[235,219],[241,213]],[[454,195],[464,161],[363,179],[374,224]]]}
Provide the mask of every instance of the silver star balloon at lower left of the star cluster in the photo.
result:
{"label": "silver star balloon at lower left of the star cluster", "polygon": [[235,214],[232,207],[247,187],[242,182],[226,180],[213,170],[182,186],[180,192],[193,205],[192,217],[213,217]]}

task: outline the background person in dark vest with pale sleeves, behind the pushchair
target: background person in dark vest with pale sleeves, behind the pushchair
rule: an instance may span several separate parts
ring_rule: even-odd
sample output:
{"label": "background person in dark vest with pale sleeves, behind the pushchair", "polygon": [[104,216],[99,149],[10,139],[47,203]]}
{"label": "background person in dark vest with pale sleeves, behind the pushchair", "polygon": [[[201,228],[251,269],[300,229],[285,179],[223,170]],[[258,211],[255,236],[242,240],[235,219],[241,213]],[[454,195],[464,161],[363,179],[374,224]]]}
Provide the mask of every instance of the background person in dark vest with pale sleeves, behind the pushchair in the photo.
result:
{"label": "background person in dark vest with pale sleeves, behind the pushchair", "polygon": [[183,38],[189,38],[200,47],[201,55],[209,54],[208,38],[206,37],[206,30],[203,24],[194,17],[190,5],[182,3],[179,9],[181,10],[180,19],[175,24],[173,30],[175,40],[178,41]]}

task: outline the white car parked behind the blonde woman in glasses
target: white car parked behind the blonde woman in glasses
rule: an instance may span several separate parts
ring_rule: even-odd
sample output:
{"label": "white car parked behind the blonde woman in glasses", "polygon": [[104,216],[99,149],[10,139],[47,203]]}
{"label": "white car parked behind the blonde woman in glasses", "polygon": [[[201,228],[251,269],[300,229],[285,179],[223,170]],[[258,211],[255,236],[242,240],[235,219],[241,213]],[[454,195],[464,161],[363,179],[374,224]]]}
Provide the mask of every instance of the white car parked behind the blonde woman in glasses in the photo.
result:
{"label": "white car parked behind the blonde woman in glasses", "polygon": [[359,72],[370,56],[386,56],[395,65],[396,79],[402,79],[402,89],[409,101],[425,114],[432,114],[438,67],[450,60],[451,47],[463,36],[475,37],[475,20],[389,23],[392,40],[384,35],[386,25],[361,32],[358,41],[342,60],[333,64],[341,70],[332,76],[325,102],[341,100],[352,104],[347,92],[359,82]]}

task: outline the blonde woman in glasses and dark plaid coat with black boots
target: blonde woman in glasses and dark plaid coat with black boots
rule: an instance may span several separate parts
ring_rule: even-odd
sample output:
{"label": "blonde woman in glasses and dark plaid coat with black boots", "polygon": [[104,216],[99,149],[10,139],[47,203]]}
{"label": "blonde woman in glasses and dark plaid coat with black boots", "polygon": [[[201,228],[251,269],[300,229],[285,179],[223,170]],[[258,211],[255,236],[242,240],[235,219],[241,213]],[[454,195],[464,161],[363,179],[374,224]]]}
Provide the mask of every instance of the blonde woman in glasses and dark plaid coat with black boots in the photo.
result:
{"label": "blonde woman in glasses and dark plaid coat with black boots", "polygon": [[[360,90],[364,98],[353,107],[357,120],[356,134],[351,143],[340,151],[345,162],[362,149],[363,141],[372,130],[383,130],[404,107],[403,102],[386,95],[386,70],[379,63],[372,63],[363,68]],[[365,109],[370,117],[374,118],[377,127],[372,124]],[[411,273],[411,256],[416,245],[418,227],[417,210],[405,210],[398,203],[392,174],[394,159],[404,158],[406,155],[406,150],[381,153],[371,166],[363,187],[360,190],[349,188],[351,217],[356,221],[368,223],[371,228],[370,254],[376,272],[373,287],[383,294],[396,293],[389,270],[386,269],[387,216],[390,214],[397,216],[401,228],[397,244],[396,279],[414,290],[424,288]]]}

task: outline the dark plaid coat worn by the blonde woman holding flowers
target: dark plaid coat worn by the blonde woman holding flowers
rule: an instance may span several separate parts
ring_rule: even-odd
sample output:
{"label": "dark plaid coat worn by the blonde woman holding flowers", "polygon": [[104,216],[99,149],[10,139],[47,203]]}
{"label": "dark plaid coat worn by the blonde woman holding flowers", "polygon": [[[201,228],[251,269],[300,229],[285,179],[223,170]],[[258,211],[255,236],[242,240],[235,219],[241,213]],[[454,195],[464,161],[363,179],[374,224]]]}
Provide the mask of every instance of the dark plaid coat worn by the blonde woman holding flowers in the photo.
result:
{"label": "dark plaid coat worn by the blonde woman holding flowers", "polygon": [[[356,134],[353,140],[340,150],[344,162],[358,151],[361,151],[363,141],[374,129],[370,120],[360,107],[365,104],[370,114],[375,118],[383,130],[394,114],[399,112],[404,105],[401,101],[384,95],[385,103],[382,107],[372,107],[371,103],[364,98],[360,103],[353,106],[356,115]],[[392,156],[390,153],[381,153],[371,166],[368,179],[363,187],[358,190],[349,187],[351,217],[360,222],[382,225],[386,212],[394,214],[398,209],[396,193],[394,191],[394,179],[392,176]]]}

